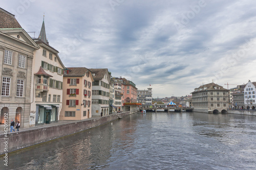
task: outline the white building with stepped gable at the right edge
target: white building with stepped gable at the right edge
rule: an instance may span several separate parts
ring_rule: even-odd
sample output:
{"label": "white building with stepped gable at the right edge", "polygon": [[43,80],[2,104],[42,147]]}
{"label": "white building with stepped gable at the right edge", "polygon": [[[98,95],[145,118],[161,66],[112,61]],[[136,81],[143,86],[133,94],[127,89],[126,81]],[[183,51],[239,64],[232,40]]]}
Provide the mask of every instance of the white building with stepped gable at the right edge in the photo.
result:
{"label": "white building with stepped gable at the right edge", "polygon": [[244,104],[246,109],[255,109],[256,82],[250,80],[244,88]]}

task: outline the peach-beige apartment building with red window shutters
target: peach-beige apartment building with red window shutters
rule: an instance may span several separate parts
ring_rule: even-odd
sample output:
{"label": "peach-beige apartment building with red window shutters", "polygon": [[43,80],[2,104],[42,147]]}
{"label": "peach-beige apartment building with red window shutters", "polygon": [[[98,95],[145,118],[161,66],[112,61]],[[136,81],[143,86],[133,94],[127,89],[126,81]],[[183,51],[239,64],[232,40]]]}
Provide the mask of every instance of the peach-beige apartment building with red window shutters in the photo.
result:
{"label": "peach-beige apartment building with red window shutters", "polygon": [[63,100],[60,120],[83,120],[92,117],[91,71],[86,67],[68,67],[63,75]]}

